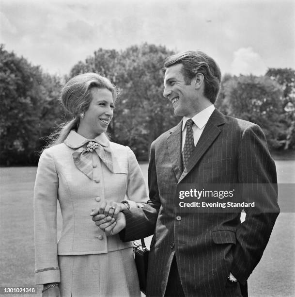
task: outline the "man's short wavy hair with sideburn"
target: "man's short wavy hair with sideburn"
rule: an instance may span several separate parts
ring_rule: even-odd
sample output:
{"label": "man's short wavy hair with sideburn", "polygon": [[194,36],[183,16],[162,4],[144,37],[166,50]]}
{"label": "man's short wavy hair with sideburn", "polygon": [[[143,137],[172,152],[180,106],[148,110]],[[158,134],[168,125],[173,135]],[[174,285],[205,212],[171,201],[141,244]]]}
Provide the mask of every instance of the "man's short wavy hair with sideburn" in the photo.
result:
{"label": "man's short wavy hair with sideburn", "polygon": [[187,50],[168,57],[164,62],[164,69],[170,66],[182,64],[182,74],[186,84],[197,73],[204,76],[204,96],[214,103],[220,90],[221,71],[217,63],[202,51]]}

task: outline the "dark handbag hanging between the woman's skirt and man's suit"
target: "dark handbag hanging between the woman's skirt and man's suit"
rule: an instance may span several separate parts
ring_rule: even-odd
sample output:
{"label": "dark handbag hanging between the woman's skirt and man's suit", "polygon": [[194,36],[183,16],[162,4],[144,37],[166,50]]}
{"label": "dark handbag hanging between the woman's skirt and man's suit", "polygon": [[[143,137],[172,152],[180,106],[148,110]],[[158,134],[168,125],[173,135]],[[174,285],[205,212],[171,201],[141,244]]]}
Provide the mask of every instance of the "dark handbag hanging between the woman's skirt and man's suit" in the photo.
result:
{"label": "dark handbag hanging between the woman's skirt and man's suit", "polygon": [[133,242],[134,260],[140,281],[140,291],[146,295],[146,277],[148,269],[149,250],[145,246],[144,239],[141,238],[141,245]]}

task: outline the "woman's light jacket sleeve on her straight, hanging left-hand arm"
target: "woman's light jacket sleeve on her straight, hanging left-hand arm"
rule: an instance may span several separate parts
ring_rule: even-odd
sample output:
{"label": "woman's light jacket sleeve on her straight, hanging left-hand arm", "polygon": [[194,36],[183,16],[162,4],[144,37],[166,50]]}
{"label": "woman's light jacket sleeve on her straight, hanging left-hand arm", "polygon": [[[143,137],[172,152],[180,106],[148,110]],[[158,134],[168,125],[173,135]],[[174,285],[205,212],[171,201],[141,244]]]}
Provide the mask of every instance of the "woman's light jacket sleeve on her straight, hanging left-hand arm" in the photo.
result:
{"label": "woman's light jacket sleeve on her straight, hanging left-hand arm", "polygon": [[58,175],[45,150],[39,160],[34,188],[35,284],[60,282],[57,260]]}

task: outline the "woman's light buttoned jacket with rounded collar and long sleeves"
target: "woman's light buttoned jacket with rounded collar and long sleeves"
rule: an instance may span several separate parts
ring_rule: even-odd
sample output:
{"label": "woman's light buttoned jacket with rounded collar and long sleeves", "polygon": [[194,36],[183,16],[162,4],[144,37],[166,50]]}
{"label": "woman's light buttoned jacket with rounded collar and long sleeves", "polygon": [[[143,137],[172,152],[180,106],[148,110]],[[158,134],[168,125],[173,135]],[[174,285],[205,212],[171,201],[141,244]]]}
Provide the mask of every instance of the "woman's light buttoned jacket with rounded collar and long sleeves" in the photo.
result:
{"label": "woman's light buttoned jacket with rounded collar and long sleeves", "polygon": [[[119,235],[106,237],[90,216],[101,200],[120,202],[131,207],[146,202],[147,192],[140,166],[128,147],[109,142],[105,134],[96,140],[112,151],[113,172],[92,153],[93,180],[73,161],[74,148],[85,138],[71,131],[64,143],[43,151],[34,189],[35,283],[59,282],[58,255],[100,254],[131,247]],[[62,234],[57,242],[57,201],[62,211]]]}

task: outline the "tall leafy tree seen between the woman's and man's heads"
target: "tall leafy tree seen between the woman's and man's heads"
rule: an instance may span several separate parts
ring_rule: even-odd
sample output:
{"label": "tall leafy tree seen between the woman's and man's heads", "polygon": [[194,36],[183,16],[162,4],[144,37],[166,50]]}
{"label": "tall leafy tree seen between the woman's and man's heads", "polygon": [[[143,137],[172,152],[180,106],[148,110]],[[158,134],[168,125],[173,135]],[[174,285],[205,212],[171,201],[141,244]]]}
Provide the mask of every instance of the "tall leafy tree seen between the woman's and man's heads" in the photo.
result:
{"label": "tall leafy tree seen between the woman's and man's heads", "polygon": [[163,98],[162,67],[171,54],[165,47],[147,43],[122,52],[125,76],[120,107],[123,112],[120,134],[115,137],[120,143],[128,143],[139,159],[147,159],[152,141],[179,120],[173,115],[171,103]]}

